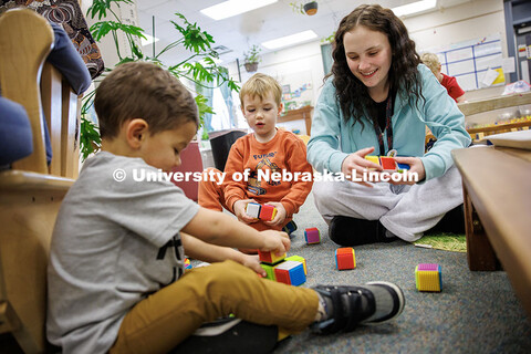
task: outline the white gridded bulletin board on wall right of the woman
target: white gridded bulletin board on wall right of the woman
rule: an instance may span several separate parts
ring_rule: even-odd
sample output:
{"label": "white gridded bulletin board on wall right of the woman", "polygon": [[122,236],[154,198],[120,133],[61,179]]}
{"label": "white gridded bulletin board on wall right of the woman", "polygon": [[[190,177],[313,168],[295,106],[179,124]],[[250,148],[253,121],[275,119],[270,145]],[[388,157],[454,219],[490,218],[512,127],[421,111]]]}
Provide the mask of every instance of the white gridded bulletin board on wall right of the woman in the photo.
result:
{"label": "white gridded bulletin board on wall right of the woman", "polygon": [[500,33],[429,51],[439,58],[440,71],[465,91],[504,84]]}

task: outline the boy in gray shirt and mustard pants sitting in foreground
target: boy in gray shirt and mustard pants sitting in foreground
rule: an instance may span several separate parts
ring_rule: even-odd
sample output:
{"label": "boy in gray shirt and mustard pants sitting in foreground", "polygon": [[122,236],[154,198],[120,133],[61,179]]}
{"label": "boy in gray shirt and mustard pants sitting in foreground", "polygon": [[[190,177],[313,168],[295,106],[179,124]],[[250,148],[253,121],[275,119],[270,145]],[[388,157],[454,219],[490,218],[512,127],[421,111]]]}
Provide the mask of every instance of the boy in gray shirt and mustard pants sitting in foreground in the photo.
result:
{"label": "boy in gray shirt and mustard pants sitting in foreground", "polygon": [[[166,353],[231,313],[290,333],[334,333],[403,311],[393,283],[306,289],[261,279],[252,257],[228,247],[283,253],[285,233],[204,209],[169,181],[135,178],[180,165],[197,131],[194,98],[165,70],[119,65],[95,108],[102,152],[64,198],[50,252],[46,332],[63,353]],[[184,250],[218,263],[184,273]]]}

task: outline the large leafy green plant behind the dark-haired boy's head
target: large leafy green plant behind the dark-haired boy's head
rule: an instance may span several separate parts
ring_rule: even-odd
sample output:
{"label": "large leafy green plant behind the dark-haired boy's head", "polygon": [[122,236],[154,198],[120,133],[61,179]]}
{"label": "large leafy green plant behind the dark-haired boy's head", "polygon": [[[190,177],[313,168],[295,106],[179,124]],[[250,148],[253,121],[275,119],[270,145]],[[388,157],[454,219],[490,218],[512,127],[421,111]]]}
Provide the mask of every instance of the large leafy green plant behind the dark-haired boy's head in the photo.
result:
{"label": "large leafy green plant behind the dark-haired boy's head", "polygon": [[[154,56],[148,56],[143,53],[142,46],[137,43],[140,38],[145,39],[143,34],[145,31],[142,28],[134,27],[124,23],[118,15],[112,10],[112,6],[119,7],[121,2],[133,3],[133,0],[93,0],[92,6],[87,10],[87,17],[98,19],[98,22],[91,27],[91,33],[96,42],[100,42],[102,38],[107,34],[112,34],[115,43],[116,54],[118,55],[118,63],[121,65],[132,61],[149,61],[157,65],[167,69],[176,77],[188,79],[200,86],[211,85],[220,86],[227,83],[228,87],[233,91],[238,91],[238,85],[229,77],[227,67],[218,66],[214,59],[218,58],[218,53],[212,50],[211,44],[215,43],[214,38],[197,25],[197,23],[190,23],[183,14],[175,13],[176,21],[170,21],[174,28],[178,32],[176,40]],[[107,12],[113,18],[112,20],[104,20],[102,18],[107,17]],[[117,33],[125,33],[127,45],[131,49],[131,56],[123,55],[119,51]],[[188,50],[189,55],[185,60],[176,64],[166,64],[160,61],[160,55],[176,46],[184,46]],[[112,69],[106,67],[102,76],[104,77]],[[102,79],[100,79],[102,80]],[[96,88],[97,90],[97,88]],[[100,148],[101,139],[97,127],[87,118],[88,111],[94,102],[95,91],[88,93],[83,98],[83,105],[81,108],[81,154],[83,160],[92,153],[95,153]],[[207,105],[207,98],[196,93],[196,103],[199,108],[199,116],[202,125],[202,118],[206,113],[214,113],[212,108]]]}

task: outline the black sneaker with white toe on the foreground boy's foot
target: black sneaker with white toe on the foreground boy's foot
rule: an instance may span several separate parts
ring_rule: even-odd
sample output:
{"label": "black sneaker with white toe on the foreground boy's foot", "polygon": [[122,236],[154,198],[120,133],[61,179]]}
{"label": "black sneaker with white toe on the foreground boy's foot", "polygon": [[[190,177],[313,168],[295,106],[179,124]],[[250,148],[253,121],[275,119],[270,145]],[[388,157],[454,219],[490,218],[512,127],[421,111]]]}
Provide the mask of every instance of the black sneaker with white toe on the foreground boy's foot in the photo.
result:
{"label": "black sneaker with white toe on the foreground boy's foot", "polygon": [[363,287],[317,285],[312,289],[324,299],[327,308],[327,319],[312,324],[312,331],[320,334],[350,332],[361,323],[391,321],[402,313],[405,305],[402,289],[385,281]]}

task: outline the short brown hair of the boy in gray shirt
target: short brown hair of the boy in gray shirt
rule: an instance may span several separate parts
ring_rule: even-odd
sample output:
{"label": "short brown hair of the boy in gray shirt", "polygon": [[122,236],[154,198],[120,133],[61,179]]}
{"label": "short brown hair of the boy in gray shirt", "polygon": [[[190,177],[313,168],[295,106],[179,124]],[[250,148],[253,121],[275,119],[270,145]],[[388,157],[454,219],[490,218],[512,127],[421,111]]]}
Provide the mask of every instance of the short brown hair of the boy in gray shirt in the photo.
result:
{"label": "short brown hair of the boy in gray shirt", "polygon": [[114,69],[96,90],[94,107],[102,137],[118,135],[122,124],[143,118],[149,133],[169,131],[194,122],[199,113],[190,92],[169,72],[147,62],[125,63]]}

